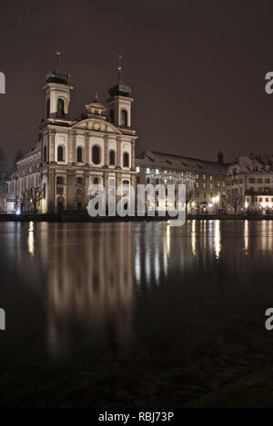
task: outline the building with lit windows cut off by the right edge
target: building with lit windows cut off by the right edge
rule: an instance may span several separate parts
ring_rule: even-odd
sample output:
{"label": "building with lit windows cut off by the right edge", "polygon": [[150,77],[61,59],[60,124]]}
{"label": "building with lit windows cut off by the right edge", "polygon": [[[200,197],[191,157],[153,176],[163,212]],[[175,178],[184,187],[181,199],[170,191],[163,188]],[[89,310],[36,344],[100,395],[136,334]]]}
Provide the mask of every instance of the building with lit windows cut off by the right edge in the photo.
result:
{"label": "building with lit windows cut off by the right edge", "polygon": [[227,167],[227,212],[234,209],[228,201],[239,199],[238,213],[272,212],[273,167],[272,157],[261,154],[239,156]]}

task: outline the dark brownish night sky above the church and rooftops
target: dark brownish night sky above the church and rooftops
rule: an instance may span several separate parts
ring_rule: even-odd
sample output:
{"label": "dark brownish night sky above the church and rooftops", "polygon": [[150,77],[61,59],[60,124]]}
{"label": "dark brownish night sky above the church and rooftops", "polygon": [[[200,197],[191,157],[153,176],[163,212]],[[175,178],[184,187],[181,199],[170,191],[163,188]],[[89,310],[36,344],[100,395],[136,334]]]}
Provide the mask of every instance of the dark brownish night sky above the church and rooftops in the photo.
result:
{"label": "dark brownish night sky above the church and rooftops", "polygon": [[[271,3],[271,5],[270,5]],[[131,86],[133,128],[143,149],[208,160],[219,148],[273,153],[272,1],[2,0],[0,146],[9,160],[35,144],[44,115],[45,75],[60,45],[74,86],[70,115],[116,82]]]}

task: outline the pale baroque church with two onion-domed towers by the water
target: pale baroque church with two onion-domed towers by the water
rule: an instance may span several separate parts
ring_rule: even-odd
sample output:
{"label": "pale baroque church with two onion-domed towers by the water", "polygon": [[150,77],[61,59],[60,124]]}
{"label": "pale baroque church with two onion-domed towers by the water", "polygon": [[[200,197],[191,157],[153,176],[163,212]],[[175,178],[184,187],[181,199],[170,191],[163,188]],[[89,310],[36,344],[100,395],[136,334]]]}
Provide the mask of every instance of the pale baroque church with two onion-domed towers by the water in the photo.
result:
{"label": "pale baroque church with two onion-domed towers by the water", "polygon": [[[121,56],[119,57],[121,60]],[[106,104],[85,105],[76,119],[69,114],[70,74],[56,66],[45,78],[45,118],[39,127],[39,141],[17,163],[9,182],[15,194],[16,212],[31,210],[24,193],[41,187],[40,213],[85,211],[90,184],[109,186],[136,184],[136,131],[131,128],[131,88],[121,80],[122,66],[117,67],[117,81],[109,90]]]}

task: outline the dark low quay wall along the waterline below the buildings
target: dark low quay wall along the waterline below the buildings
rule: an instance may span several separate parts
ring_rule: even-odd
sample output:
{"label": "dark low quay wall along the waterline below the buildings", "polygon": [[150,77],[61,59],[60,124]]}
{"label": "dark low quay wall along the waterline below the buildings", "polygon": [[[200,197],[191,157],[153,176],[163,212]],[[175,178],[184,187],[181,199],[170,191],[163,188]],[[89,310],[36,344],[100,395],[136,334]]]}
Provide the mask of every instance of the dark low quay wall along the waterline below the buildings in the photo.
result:
{"label": "dark low quay wall along the waterline below the buildings", "polygon": [[[168,221],[172,219],[166,216],[125,216],[125,217],[90,217],[86,212],[63,212],[44,214],[0,214],[0,222],[77,222],[77,223],[105,223],[105,222],[150,222]],[[187,220],[250,220],[250,221],[271,221],[273,214],[188,214]]]}

